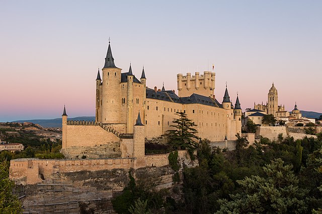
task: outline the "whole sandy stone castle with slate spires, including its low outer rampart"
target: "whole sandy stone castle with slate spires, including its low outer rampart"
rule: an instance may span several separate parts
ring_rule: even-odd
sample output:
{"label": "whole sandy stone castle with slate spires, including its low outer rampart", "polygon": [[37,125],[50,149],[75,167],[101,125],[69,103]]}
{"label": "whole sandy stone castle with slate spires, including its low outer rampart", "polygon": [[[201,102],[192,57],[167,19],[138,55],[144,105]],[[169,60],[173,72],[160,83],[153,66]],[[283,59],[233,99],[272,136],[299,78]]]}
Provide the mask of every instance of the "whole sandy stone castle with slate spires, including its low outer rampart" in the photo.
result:
{"label": "whole sandy stone castle with slate spires, including its low outer rampart", "polygon": [[[66,108],[63,110],[61,152],[71,159],[12,160],[10,176],[22,183],[37,183],[68,171],[166,166],[169,154],[145,155],[144,143],[173,129],[176,112],[184,112],[193,120],[200,138],[225,148],[241,133],[238,96],[233,107],[226,86],[219,103],[214,95],[214,72],[178,74],[178,96],[165,87],[146,87],[144,68],[140,80],[131,65],[128,72],[121,71],[109,43],[102,79],[100,71],[96,78],[95,121],[67,120]],[[179,154],[189,156],[186,151]]]}

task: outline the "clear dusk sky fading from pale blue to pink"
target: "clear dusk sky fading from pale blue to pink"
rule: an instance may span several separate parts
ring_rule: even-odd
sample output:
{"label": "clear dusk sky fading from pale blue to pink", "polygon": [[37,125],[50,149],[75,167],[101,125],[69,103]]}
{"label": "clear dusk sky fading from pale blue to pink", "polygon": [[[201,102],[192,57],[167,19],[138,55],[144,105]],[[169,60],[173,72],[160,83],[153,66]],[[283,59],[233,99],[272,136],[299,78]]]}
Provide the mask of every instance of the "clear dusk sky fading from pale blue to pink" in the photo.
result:
{"label": "clear dusk sky fading from pale blue to pink", "polygon": [[219,102],[322,112],[322,1],[0,1],[0,121],[95,116],[111,38],[115,65],[147,87],[211,71]]}

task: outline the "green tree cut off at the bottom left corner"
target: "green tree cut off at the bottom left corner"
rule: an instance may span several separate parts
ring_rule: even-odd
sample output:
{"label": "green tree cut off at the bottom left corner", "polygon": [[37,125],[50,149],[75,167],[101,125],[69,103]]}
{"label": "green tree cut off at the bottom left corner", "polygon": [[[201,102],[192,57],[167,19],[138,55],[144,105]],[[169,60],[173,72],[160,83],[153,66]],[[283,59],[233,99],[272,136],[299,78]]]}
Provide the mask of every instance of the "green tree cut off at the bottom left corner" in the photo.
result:
{"label": "green tree cut off at the bottom left corner", "polygon": [[22,213],[22,204],[16,195],[12,194],[15,183],[9,178],[7,161],[0,163],[0,213]]}

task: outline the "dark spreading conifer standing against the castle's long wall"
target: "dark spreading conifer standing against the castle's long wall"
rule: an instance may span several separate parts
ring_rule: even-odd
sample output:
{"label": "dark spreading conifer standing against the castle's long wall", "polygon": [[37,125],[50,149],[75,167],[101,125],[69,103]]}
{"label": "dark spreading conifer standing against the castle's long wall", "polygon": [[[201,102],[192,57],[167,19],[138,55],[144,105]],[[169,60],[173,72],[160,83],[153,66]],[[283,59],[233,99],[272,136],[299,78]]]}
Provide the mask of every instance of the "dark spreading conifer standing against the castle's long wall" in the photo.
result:
{"label": "dark spreading conifer standing against the castle's long wall", "polygon": [[172,145],[174,149],[187,149],[190,154],[197,148],[199,137],[196,135],[197,130],[194,128],[195,125],[192,120],[188,119],[184,112],[177,112],[176,115],[179,118],[174,119],[172,122],[175,125],[174,130],[168,130],[169,144]]}

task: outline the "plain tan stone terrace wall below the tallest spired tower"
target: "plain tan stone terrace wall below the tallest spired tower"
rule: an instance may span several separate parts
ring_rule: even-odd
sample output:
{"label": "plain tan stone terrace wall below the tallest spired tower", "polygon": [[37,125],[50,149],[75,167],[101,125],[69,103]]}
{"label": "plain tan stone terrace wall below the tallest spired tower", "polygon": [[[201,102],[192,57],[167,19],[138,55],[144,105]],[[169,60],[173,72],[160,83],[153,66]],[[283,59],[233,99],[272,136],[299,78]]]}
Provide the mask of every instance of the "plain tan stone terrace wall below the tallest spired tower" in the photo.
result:
{"label": "plain tan stone terrace wall below the tallest spired tower", "polygon": [[97,146],[120,140],[115,134],[99,125],[66,125],[65,138],[66,145],[63,149],[74,146]]}

